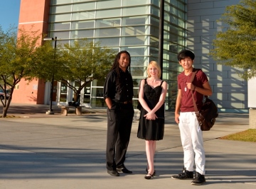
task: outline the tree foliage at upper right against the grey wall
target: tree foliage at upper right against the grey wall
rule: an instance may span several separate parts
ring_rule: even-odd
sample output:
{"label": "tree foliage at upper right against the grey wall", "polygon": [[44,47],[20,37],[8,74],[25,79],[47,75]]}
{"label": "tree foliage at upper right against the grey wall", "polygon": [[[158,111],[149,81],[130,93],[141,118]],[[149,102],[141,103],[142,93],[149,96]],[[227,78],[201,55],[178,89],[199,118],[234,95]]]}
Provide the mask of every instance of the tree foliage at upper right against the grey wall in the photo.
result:
{"label": "tree foliage at upper right against the grey wall", "polygon": [[227,6],[219,21],[225,30],[217,33],[210,55],[218,64],[243,69],[243,79],[256,76],[256,1]]}

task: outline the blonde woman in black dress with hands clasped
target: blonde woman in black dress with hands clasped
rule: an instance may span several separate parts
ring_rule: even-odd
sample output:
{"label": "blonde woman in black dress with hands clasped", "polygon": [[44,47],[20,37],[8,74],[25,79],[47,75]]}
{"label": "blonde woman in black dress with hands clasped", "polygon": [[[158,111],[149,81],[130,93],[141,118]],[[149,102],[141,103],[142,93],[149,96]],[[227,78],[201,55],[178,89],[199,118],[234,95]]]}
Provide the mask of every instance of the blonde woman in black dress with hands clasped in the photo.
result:
{"label": "blonde woman in black dress with hands clasped", "polygon": [[155,61],[149,62],[147,74],[148,77],[143,79],[139,86],[139,103],[142,105],[142,110],[137,137],[146,140],[147,174],[144,178],[151,179],[155,176],[156,140],[164,137],[164,100],[167,83],[160,79],[161,68]]}

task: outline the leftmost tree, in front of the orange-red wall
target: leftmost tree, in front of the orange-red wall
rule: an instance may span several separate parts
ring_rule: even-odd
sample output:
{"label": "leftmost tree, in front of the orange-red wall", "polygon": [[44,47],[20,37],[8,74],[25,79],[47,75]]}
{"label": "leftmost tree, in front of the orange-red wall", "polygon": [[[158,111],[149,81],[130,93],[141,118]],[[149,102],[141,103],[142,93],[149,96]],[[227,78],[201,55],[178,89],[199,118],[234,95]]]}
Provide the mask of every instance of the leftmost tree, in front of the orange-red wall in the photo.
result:
{"label": "leftmost tree, in front of the orange-red wall", "polygon": [[[32,29],[32,28],[31,28]],[[9,28],[6,32],[0,28],[0,88],[9,89],[8,100],[1,100],[3,105],[2,118],[9,109],[15,86],[21,79],[33,79],[33,63],[36,59],[41,35],[37,31]]]}

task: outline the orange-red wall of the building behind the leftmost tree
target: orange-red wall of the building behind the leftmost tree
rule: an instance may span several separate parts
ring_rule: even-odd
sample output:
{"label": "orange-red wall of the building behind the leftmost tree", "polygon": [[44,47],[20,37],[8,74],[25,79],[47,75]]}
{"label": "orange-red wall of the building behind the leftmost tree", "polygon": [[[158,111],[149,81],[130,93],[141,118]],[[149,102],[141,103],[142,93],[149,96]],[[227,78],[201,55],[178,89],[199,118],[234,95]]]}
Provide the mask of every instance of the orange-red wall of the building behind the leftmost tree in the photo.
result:
{"label": "orange-red wall of the building behind the leftmost tree", "polygon": [[[38,30],[39,33],[48,31],[48,14],[50,0],[21,0],[18,19],[18,28]],[[22,79],[14,90],[12,102],[14,103],[44,103],[45,82],[34,79],[30,83]]]}

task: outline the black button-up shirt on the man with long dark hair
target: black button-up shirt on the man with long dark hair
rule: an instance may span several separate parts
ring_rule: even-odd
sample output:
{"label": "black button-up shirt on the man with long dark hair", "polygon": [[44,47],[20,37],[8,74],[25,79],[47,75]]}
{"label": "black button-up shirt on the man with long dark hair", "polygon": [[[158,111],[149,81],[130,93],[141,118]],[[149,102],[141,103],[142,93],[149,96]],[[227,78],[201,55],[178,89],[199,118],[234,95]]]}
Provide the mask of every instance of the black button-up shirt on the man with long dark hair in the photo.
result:
{"label": "black button-up shirt on the man with long dark hair", "polygon": [[117,72],[112,70],[107,74],[107,79],[104,84],[104,98],[110,98],[115,102],[132,101],[133,81],[129,71],[120,71],[119,86],[117,86]]}

